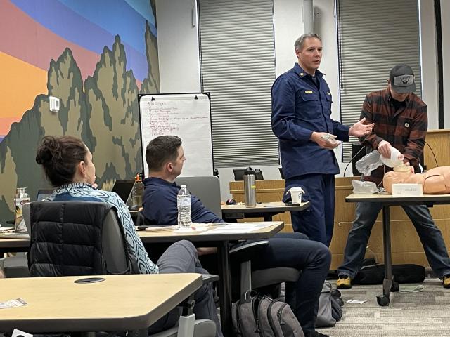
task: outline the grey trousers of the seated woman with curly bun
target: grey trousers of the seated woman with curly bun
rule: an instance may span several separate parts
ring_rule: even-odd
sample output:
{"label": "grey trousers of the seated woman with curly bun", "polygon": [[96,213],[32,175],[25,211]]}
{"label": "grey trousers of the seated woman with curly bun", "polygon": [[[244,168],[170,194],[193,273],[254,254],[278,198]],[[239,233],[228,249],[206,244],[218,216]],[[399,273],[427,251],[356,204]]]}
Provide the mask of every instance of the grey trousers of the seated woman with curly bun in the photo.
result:
{"label": "grey trousers of the seated woman with curly bun", "polygon": [[[198,272],[206,274],[197,256],[195,246],[186,240],[175,242],[162,254],[157,263],[160,274],[174,274],[179,272]],[[211,319],[217,326],[217,337],[223,336],[221,333],[219,318],[217,317],[216,305],[214,304],[212,285],[203,284],[194,294],[194,313],[196,319]],[[162,317],[158,322],[150,326],[149,332],[155,333],[169,329],[178,321],[180,312],[175,308],[172,312]]]}

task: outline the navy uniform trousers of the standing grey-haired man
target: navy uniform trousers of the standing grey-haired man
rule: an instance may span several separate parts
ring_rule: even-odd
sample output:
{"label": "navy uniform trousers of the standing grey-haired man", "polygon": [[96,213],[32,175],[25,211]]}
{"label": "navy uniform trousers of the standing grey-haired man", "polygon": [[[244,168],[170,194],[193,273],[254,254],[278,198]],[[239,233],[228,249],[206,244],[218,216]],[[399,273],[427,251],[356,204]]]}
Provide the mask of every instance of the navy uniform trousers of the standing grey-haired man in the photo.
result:
{"label": "navy uniform trousers of the standing grey-haired man", "polygon": [[[314,159],[313,159],[314,160]],[[290,212],[295,232],[304,233],[309,239],[330,246],[333,237],[335,217],[335,176],[333,174],[305,174],[286,179],[286,189],[302,187],[302,201],[310,201],[311,206],[301,212]],[[290,194],[283,201],[290,199]]]}

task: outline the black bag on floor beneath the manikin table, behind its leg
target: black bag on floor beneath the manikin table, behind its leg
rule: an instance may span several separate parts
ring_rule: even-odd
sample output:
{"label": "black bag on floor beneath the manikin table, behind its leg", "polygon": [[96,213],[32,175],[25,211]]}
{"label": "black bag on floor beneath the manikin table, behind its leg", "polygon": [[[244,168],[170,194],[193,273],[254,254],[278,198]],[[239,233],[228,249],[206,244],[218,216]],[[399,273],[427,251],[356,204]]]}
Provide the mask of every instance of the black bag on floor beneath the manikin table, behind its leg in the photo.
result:
{"label": "black bag on floor beneath the manikin table, behind its leg", "polygon": [[[421,283],[425,279],[422,265],[392,265],[392,275],[399,283]],[[365,265],[361,267],[352,284],[383,284],[385,265]]]}

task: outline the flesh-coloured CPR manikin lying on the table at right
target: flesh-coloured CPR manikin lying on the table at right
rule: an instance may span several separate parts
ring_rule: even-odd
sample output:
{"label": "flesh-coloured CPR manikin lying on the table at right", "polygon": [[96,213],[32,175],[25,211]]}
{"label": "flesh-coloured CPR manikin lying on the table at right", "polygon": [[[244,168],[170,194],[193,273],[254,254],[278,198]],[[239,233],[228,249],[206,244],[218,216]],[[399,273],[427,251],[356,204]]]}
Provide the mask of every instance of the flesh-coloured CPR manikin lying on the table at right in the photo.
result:
{"label": "flesh-coloured CPR manikin lying on the table at right", "polygon": [[392,194],[392,184],[422,184],[425,194],[450,193],[450,166],[435,167],[425,173],[387,172],[383,177],[385,190]]}

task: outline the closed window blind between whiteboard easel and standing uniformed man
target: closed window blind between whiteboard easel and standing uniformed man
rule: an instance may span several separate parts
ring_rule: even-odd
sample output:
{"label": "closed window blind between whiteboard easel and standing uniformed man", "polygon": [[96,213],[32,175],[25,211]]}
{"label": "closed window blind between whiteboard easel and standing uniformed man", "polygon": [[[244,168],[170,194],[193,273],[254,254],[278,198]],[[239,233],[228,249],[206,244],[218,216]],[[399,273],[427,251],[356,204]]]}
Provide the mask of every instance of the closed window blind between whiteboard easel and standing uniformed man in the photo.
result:
{"label": "closed window blind between whiteboard easel and standing uniformed man", "polygon": [[270,123],[276,77],[273,7],[273,0],[198,0],[214,167],[278,164]]}

